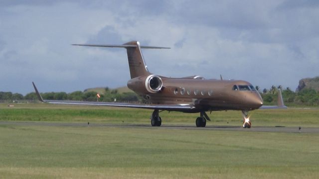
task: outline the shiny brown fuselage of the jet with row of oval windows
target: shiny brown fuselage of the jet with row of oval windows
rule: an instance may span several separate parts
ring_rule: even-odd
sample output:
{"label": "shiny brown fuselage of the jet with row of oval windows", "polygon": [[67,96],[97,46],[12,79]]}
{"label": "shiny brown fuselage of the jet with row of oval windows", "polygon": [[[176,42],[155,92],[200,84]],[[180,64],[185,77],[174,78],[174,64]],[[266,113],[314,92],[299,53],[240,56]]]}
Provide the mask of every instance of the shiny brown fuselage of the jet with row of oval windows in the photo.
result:
{"label": "shiny brown fuselage of the jet with row of oval windows", "polygon": [[144,81],[147,76],[128,82],[128,87],[143,96],[152,104],[191,104],[191,110],[176,110],[188,113],[200,111],[245,110],[250,111],[262,106],[263,101],[256,90],[233,90],[234,85],[251,84],[242,80],[216,80],[167,78],[160,76],[162,88],[151,93],[146,90]]}

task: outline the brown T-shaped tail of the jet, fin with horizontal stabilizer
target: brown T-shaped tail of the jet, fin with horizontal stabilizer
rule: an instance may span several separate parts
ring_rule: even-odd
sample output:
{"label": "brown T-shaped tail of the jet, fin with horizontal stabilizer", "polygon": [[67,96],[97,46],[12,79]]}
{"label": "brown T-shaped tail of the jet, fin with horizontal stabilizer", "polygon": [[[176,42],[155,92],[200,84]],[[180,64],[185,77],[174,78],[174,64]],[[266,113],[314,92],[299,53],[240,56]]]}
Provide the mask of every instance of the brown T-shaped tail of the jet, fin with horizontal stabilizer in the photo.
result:
{"label": "brown T-shaped tail of the jet, fin with horizontal stabilizer", "polygon": [[131,78],[151,74],[144,61],[141,48],[167,48],[167,47],[156,47],[156,46],[140,46],[139,41],[130,41],[130,42],[124,43],[123,45],[95,45],[95,44],[72,44],[72,45],[126,48],[126,51],[128,54]]}

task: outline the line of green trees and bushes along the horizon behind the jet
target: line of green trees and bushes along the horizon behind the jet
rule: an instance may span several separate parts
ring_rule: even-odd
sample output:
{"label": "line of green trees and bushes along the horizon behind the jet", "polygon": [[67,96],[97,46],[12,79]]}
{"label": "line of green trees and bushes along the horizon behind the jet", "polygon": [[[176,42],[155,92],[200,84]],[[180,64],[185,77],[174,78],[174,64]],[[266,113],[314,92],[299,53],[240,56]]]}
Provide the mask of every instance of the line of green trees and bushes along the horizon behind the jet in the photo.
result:
{"label": "line of green trees and bushes along the horizon behind the jet", "polygon": [[[278,89],[281,89],[284,102],[288,106],[306,105],[319,106],[319,92],[315,89],[302,89],[294,92],[289,87],[283,89],[281,85],[271,86],[269,89],[261,90],[259,86],[255,87],[261,94],[264,104],[276,105]],[[48,92],[41,93],[43,99],[47,100],[76,100],[76,101],[97,101],[97,92],[82,92],[74,91],[72,93],[65,92]],[[119,93],[117,90],[105,88],[103,94],[99,94],[99,101],[103,102],[141,102],[143,99],[134,92]],[[21,101],[21,100],[37,100],[34,92],[28,93],[25,96],[19,93],[0,92],[0,100],[4,101]]]}

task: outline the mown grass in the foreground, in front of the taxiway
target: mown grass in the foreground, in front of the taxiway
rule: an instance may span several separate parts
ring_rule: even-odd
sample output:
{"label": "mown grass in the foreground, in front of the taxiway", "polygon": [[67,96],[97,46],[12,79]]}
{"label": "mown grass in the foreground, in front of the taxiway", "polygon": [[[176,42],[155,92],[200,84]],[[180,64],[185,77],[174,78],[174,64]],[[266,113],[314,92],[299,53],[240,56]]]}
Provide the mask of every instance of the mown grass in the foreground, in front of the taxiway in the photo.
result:
{"label": "mown grass in the foreground, in front of the taxiway", "polygon": [[0,125],[2,178],[318,178],[319,136]]}

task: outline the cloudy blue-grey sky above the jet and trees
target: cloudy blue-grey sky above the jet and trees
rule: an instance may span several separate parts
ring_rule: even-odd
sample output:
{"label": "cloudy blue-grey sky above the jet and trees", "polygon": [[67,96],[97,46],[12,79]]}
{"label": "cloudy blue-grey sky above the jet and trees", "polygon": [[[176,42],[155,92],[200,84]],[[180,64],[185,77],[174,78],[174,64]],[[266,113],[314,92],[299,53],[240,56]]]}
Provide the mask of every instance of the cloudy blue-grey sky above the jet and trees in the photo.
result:
{"label": "cloudy blue-grey sky above the jet and trees", "polygon": [[246,80],[261,89],[319,76],[318,0],[0,0],[0,91],[122,87],[125,49],[150,72]]}

